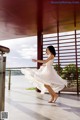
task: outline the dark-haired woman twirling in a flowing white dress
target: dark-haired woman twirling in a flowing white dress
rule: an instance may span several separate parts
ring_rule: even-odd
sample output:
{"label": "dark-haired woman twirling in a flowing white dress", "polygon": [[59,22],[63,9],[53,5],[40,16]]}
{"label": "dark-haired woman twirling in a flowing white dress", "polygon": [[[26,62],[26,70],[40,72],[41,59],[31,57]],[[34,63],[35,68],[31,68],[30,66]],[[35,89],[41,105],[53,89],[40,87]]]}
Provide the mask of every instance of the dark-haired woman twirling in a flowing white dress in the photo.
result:
{"label": "dark-haired woman twirling in a flowing white dress", "polygon": [[25,75],[29,75],[29,78],[35,83],[35,86],[41,90],[41,93],[45,93],[46,90],[50,93],[51,99],[49,103],[52,103],[57,100],[57,92],[67,85],[67,81],[63,80],[52,67],[56,55],[55,48],[53,46],[48,46],[46,53],[48,55],[46,60],[32,59],[33,62],[43,63],[40,69],[36,71],[26,69],[22,70],[22,72]]}

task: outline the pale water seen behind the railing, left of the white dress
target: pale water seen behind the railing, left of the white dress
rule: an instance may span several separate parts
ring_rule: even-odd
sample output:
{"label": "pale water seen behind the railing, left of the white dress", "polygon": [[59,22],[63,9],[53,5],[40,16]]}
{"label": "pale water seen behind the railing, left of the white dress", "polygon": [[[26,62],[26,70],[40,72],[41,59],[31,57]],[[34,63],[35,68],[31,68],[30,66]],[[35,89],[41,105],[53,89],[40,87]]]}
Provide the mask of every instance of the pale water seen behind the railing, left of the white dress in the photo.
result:
{"label": "pale water seen behind the railing, left of the white dress", "polygon": [[[8,89],[9,84],[9,76],[5,77],[5,87]],[[25,78],[24,75],[15,75],[11,76],[10,82],[11,89],[26,89],[34,87],[32,83],[30,83],[28,78]]]}

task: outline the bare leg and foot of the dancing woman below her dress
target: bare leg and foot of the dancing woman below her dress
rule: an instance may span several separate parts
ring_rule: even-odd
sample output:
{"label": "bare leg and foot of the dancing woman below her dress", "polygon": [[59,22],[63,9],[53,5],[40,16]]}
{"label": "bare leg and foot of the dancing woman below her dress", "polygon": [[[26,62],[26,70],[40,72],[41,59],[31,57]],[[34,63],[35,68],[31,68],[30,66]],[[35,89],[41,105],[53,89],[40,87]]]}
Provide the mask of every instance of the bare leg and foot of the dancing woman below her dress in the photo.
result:
{"label": "bare leg and foot of the dancing woman below her dress", "polygon": [[51,100],[49,101],[49,103],[55,102],[58,98],[58,95],[53,91],[53,89],[51,88],[50,85],[45,84],[44,86],[47,88],[47,90],[49,91],[49,93],[52,97]]}

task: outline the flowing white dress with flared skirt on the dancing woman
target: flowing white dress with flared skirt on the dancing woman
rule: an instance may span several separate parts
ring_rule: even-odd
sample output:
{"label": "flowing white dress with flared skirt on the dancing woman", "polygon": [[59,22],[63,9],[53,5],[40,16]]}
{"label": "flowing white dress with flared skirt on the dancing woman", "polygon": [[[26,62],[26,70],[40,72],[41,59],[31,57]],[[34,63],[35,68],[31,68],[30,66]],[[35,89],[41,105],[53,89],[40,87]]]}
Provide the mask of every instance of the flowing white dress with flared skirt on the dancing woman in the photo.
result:
{"label": "flowing white dress with flared skirt on the dancing woman", "polygon": [[22,69],[21,72],[26,78],[29,78],[35,87],[41,90],[41,93],[45,93],[47,89],[44,84],[50,85],[55,92],[61,91],[67,86],[67,81],[62,79],[54,69],[53,60],[48,61],[45,65],[42,65],[40,69],[26,68]]}

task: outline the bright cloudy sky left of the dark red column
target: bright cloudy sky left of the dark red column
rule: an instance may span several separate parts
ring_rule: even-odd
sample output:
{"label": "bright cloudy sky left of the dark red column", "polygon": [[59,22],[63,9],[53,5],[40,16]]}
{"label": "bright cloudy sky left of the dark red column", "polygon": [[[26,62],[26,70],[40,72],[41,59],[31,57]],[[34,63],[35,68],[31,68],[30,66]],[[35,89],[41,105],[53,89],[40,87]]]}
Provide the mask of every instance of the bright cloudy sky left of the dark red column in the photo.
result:
{"label": "bright cloudy sky left of the dark red column", "polygon": [[10,48],[6,54],[6,67],[36,67],[32,59],[37,59],[37,38],[26,37],[0,41],[0,45]]}

